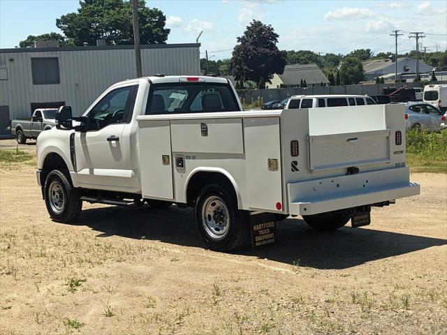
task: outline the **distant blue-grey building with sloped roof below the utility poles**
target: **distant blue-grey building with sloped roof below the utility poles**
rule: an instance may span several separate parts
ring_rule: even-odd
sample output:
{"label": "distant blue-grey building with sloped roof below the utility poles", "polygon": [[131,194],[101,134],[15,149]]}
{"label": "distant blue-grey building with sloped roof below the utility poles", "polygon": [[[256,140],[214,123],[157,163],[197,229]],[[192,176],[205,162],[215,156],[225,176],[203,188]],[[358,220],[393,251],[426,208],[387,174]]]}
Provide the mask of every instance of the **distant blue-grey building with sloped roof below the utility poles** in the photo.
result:
{"label": "distant blue-grey building with sloped roof below the utility poles", "polygon": [[[393,57],[389,59],[376,59],[374,61],[364,61],[365,80],[374,80],[376,77],[388,75],[388,79],[395,80],[396,64]],[[430,73],[433,67],[419,61],[419,73]],[[416,60],[409,57],[397,59],[397,79],[402,79],[405,74],[416,73]]]}

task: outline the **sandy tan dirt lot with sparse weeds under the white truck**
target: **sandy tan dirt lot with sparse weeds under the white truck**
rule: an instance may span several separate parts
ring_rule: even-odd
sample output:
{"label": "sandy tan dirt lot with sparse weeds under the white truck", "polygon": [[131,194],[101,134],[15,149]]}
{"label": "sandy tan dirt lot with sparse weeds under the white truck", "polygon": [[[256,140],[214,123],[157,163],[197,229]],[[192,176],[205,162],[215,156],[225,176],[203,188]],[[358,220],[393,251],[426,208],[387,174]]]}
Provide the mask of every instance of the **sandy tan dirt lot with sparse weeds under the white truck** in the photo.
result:
{"label": "sandy tan dirt lot with sparse weeds under the white truck", "polygon": [[446,174],[413,174],[422,194],[366,228],[290,218],[277,246],[224,254],[175,206],[54,223],[34,170],[0,169],[0,334],[447,334]]}

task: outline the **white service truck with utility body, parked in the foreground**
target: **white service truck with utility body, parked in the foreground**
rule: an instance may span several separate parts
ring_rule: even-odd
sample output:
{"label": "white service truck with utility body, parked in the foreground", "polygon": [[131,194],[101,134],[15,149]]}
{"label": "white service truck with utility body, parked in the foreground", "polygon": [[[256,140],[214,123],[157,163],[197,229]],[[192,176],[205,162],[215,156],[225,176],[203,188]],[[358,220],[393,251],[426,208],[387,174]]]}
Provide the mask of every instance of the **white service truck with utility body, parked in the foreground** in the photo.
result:
{"label": "white service truck with utility body, parked in the foreground", "polygon": [[61,107],[37,152],[54,221],[73,221],[83,201],[175,203],[195,209],[219,251],[243,246],[259,211],[334,230],[419,193],[405,165],[404,105],[243,111],[217,77],[119,82],[82,117]]}

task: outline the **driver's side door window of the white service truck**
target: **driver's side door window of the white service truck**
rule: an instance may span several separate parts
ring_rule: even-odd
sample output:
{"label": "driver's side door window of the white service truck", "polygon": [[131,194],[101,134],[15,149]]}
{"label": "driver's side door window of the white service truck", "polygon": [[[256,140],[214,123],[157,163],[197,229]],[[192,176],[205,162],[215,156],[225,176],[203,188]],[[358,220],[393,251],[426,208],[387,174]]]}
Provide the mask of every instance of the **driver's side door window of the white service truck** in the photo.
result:
{"label": "driver's side door window of the white service truck", "polygon": [[135,86],[110,91],[88,114],[88,130],[98,131],[109,124],[126,123],[131,113]]}

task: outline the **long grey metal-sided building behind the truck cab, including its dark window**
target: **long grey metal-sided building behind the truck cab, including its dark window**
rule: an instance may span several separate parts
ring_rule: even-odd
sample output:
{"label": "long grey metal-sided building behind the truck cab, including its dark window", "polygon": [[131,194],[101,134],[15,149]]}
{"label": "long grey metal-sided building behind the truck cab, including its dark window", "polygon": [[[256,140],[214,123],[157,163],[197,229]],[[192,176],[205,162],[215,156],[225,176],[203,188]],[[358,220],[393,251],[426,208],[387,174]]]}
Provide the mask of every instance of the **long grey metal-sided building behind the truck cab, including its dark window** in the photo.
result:
{"label": "long grey metal-sided building behind the truck cab, including its dark window", "polygon": [[[142,75],[200,75],[200,44],[141,45]],[[82,114],[111,84],[135,77],[133,45],[0,49],[0,135],[37,107]]]}

